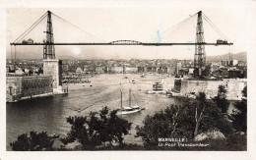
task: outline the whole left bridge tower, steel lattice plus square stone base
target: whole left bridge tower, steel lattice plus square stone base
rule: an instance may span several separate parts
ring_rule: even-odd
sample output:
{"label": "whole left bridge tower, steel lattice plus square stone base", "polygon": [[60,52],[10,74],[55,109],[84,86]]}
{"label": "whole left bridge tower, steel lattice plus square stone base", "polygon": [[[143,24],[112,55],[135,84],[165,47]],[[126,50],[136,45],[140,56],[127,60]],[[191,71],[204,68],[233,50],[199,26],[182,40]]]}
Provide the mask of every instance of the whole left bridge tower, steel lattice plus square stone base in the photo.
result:
{"label": "whole left bridge tower, steel lattice plus square stone base", "polygon": [[55,59],[53,27],[51,12],[47,11],[46,40],[43,45],[43,74],[52,76],[53,92],[63,92],[62,86],[62,61]]}

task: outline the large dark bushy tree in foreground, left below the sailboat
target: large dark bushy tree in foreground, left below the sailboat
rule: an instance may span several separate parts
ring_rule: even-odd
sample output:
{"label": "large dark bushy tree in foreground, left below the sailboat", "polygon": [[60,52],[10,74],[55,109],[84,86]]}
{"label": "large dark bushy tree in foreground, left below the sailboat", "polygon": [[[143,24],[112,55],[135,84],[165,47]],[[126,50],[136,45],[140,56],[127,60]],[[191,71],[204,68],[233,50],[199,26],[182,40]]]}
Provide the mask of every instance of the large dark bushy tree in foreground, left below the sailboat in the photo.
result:
{"label": "large dark bushy tree in foreground, left below the sailboat", "polygon": [[64,144],[78,140],[83,149],[94,149],[105,142],[123,143],[123,135],[131,130],[131,123],[119,118],[117,110],[109,113],[107,107],[96,112],[91,112],[89,117],[69,117],[67,122],[71,125],[71,131],[61,138]]}

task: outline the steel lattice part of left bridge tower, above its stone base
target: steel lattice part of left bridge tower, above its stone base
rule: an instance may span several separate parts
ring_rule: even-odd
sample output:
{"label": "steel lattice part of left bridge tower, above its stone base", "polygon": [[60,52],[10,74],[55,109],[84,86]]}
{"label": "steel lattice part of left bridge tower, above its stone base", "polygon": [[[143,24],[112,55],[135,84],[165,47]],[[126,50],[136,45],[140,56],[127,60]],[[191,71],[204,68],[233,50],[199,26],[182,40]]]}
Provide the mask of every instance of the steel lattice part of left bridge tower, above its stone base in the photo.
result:
{"label": "steel lattice part of left bridge tower, above its stone base", "polygon": [[43,45],[43,59],[55,59],[55,48],[54,45],[51,45],[54,43],[54,38],[50,11],[47,11],[47,27],[44,32],[46,33],[46,41],[44,41],[46,44]]}

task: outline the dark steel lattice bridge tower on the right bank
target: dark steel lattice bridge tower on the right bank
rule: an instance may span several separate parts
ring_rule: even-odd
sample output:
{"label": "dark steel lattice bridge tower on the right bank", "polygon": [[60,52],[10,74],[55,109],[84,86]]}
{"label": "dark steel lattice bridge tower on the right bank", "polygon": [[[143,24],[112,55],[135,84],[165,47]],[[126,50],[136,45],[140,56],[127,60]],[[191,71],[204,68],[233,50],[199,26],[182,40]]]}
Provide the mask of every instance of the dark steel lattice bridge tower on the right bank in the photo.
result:
{"label": "dark steel lattice bridge tower on the right bank", "polygon": [[[206,64],[205,38],[202,11],[198,12],[197,29],[196,29],[195,57],[194,57],[194,77],[202,78],[202,71]],[[202,44],[200,44],[202,43]]]}

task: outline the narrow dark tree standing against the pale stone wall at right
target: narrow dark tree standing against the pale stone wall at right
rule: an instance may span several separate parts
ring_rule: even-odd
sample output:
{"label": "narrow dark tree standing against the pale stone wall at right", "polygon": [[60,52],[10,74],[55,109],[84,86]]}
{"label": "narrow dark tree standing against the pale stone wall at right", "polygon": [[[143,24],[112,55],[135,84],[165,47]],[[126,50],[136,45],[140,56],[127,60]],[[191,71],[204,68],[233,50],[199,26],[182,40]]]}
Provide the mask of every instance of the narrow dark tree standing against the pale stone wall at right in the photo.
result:
{"label": "narrow dark tree standing against the pale stone wall at right", "polygon": [[219,90],[217,96],[213,98],[216,105],[222,109],[222,113],[226,113],[229,107],[229,102],[226,99],[226,89],[224,85],[219,85]]}

